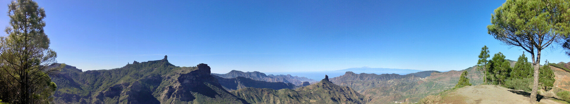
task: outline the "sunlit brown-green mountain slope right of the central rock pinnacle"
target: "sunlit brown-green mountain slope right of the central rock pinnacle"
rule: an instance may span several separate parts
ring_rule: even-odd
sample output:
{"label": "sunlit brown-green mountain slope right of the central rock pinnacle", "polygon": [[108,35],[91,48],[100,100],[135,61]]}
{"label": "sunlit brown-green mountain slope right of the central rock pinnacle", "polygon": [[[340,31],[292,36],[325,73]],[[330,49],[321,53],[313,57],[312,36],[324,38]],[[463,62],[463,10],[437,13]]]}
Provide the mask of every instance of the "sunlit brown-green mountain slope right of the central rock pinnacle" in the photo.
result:
{"label": "sunlit brown-green mountain slope right of the central rock pinnacle", "polygon": [[[482,71],[469,67],[471,83],[482,83]],[[427,95],[450,89],[459,80],[462,71],[420,71],[399,74],[355,74],[350,71],[331,78],[339,86],[348,86],[370,97],[369,103],[417,102]],[[481,74],[478,74],[481,73]],[[457,76],[457,77],[455,77]]]}

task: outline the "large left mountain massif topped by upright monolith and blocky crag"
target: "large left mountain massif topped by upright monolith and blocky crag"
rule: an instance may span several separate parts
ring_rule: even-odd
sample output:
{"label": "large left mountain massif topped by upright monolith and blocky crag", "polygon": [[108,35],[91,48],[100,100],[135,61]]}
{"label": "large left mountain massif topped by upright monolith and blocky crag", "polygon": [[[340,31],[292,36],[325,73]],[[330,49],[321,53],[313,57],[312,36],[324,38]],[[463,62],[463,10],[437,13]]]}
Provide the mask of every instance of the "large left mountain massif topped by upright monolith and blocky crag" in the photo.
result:
{"label": "large left mountain massif topped by upright monolith and blocky crag", "polygon": [[111,70],[66,66],[51,78],[55,103],[247,103],[224,90],[206,64],[178,67],[166,56]]}

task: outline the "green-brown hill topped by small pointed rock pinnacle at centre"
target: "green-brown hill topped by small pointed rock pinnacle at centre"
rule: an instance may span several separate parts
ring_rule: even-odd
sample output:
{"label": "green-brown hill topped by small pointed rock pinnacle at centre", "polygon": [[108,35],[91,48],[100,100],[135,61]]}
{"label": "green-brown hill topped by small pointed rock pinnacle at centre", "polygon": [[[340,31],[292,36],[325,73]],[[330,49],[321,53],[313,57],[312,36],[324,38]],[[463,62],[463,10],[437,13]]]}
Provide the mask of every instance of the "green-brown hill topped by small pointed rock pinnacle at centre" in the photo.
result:
{"label": "green-brown hill topped by small pointed rock pinnacle at centre", "polygon": [[251,103],[366,103],[368,98],[350,87],[338,86],[328,77],[296,90],[246,88],[231,91]]}

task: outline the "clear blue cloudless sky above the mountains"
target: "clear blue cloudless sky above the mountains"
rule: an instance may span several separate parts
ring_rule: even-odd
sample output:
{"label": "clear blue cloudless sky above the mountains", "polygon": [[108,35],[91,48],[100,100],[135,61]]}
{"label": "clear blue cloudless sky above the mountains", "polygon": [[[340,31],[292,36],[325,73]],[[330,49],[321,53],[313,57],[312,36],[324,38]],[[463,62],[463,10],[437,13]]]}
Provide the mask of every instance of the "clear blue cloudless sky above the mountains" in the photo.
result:
{"label": "clear blue cloudless sky above the mountains", "polygon": [[[177,66],[206,63],[213,73],[462,70],[477,63],[483,45],[507,59],[523,53],[487,34],[504,2],[497,0],[37,2],[58,62],[83,70],[164,55]],[[8,3],[1,0],[0,11]],[[0,26],[8,20],[0,16]],[[570,61],[560,49],[544,59]]]}

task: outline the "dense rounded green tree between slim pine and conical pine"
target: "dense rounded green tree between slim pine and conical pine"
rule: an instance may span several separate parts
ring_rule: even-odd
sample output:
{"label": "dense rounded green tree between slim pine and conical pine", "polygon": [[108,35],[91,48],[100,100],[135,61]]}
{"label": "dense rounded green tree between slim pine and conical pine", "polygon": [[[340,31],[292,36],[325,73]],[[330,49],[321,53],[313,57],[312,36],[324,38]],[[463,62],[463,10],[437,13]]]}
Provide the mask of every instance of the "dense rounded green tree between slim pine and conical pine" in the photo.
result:
{"label": "dense rounded green tree between slim pine and conical pine", "polygon": [[496,53],[487,64],[487,82],[492,85],[503,85],[510,77],[511,63],[504,58],[503,53]]}

